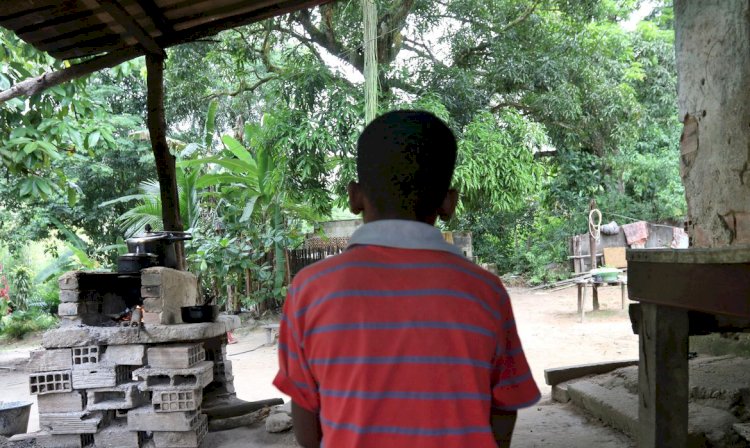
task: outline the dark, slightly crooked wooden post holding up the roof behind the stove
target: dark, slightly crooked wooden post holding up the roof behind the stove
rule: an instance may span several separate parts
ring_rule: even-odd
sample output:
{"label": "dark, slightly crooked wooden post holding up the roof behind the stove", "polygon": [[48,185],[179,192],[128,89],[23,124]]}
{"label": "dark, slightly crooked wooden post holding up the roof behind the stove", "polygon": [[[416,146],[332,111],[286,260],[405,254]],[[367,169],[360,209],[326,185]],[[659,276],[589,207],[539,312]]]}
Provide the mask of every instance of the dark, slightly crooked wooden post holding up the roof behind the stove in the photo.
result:
{"label": "dark, slightly crooked wooden post holding up the roof behind the stove", "polygon": [[[156,175],[161,194],[161,216],[164,230],[182,231],[180,200],[177,193],[175,157],[167,145],[167,123],[164,118],[164,58],[146,55],[146,87],[148,89],[148,132],[156,160]],[[178,269],[185,269],[185,250],[182,242],[175,244]]]}

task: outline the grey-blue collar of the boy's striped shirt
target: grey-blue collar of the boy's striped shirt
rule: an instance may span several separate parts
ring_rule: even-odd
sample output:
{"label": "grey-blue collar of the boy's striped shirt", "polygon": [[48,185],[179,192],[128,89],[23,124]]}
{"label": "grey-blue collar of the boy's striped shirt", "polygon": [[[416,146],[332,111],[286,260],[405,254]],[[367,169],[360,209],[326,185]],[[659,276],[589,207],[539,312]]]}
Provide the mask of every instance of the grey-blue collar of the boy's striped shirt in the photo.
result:
{"label": "grey-blue collar of the boy's striped shirt", "polygon": [[463,257],[461,249],[447,243],[434,226],[401,219],[382,219],[362,225],[349,240],[349,247],[356,245],[439,250]]}

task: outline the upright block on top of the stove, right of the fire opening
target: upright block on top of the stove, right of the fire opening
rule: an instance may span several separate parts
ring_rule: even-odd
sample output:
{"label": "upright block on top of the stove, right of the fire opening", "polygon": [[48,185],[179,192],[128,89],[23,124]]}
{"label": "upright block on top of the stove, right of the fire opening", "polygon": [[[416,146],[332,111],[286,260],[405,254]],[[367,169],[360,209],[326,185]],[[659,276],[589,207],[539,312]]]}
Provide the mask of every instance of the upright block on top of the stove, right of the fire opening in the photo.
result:
{"label": "upright block on top of the stove, right of the fire opening", "polygon": [[180,324],[180,308],[197,304],[198,279],[190,272],[165,267],[144,269],[141,297],[146,324]]}

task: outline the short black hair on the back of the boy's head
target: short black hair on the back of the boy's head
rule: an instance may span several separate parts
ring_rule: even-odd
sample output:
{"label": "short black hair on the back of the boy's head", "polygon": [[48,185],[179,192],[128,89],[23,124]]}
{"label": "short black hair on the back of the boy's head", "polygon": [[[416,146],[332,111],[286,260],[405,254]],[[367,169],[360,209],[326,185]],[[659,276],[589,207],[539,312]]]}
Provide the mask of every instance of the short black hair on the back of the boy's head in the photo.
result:
{"label": "short black hair on the back of the boy's head", "polygon": [[373,120],[357,141],[357,176],[380,213],[434,215],[450,188],[456,137],[441,119],[395,110]]}

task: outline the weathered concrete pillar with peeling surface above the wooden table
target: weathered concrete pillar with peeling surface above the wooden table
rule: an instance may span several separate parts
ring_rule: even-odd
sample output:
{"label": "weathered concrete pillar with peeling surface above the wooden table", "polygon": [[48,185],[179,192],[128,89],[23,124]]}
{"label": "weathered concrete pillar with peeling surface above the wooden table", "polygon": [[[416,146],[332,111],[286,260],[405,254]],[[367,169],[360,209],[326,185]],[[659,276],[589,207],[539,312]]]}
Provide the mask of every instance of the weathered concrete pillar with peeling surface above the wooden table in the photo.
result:
{"label": "weathered concrete pillar with peeling surface above the wooden table", "polygon": [[681,175],[696,247],[750,243],[750,3],[675,0]]}

